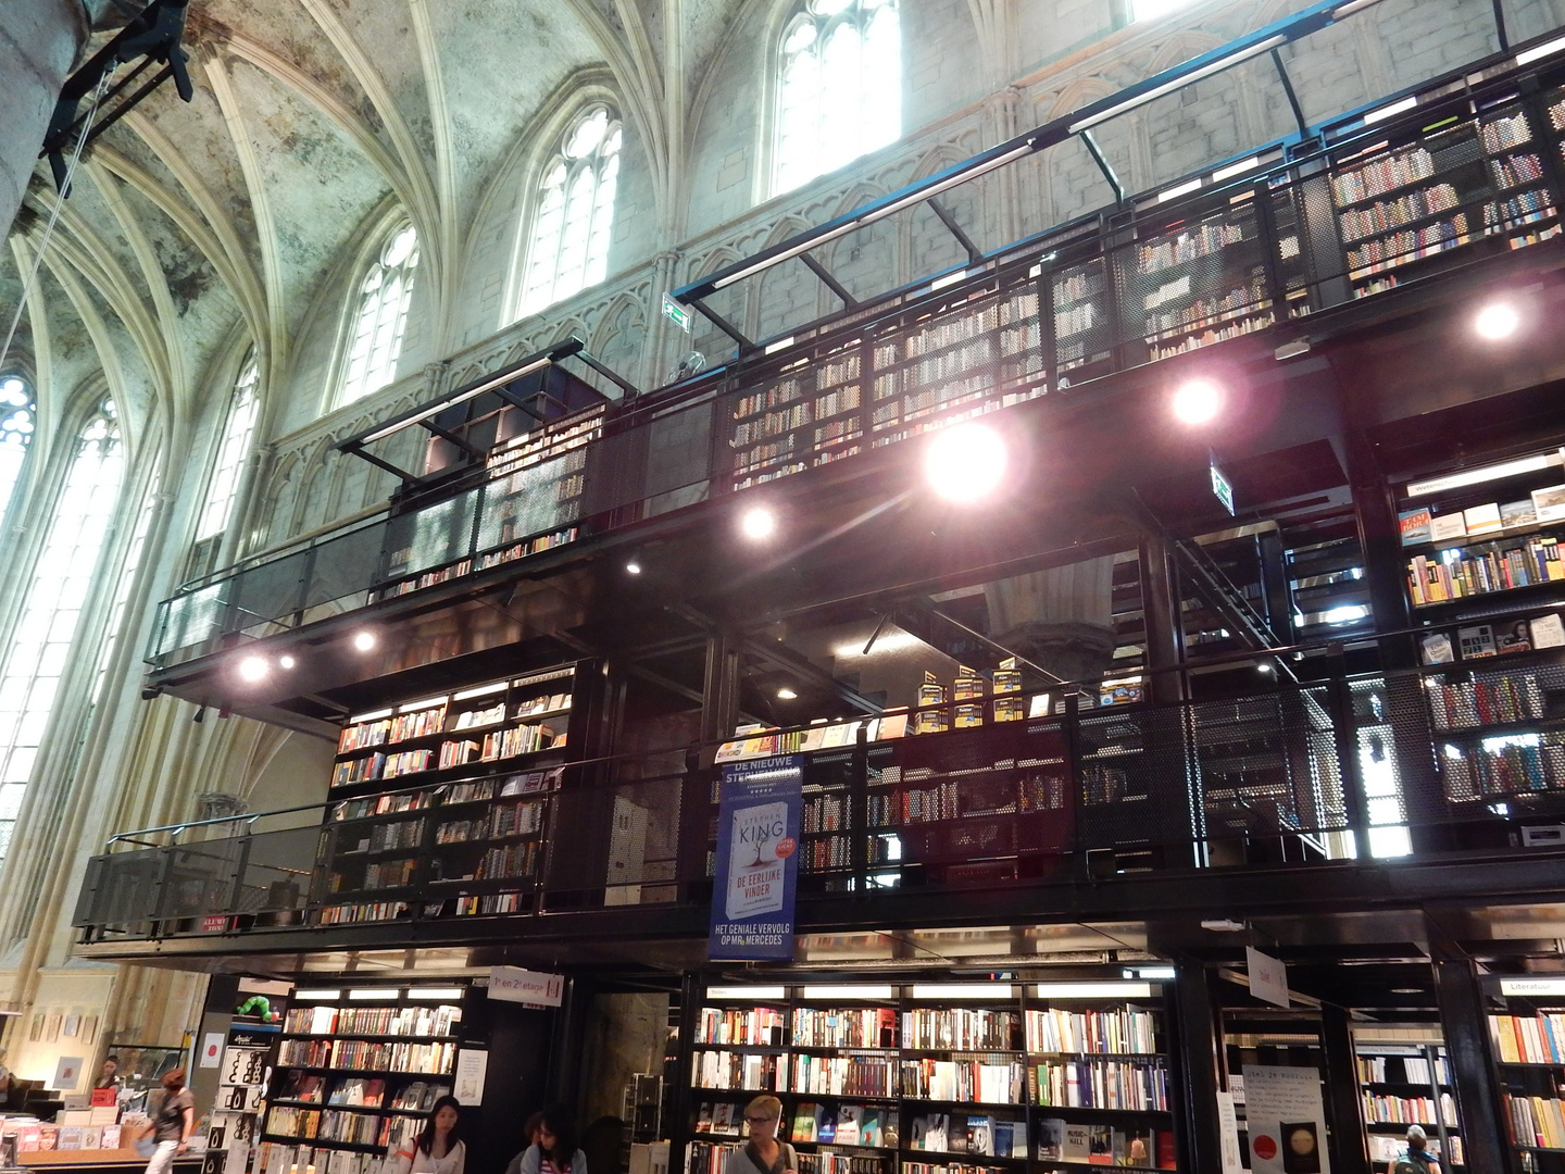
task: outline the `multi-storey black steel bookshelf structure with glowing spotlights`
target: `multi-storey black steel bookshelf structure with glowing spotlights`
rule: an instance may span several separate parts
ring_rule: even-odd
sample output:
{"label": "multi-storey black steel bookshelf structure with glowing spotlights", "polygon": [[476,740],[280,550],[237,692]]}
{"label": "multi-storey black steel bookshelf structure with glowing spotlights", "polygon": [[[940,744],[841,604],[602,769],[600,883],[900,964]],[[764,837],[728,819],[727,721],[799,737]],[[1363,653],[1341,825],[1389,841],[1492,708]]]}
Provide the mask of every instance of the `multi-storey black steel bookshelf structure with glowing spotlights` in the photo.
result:
{"label": "multi-storey black steel bookshelf structure with glowing spotlights", "polygon": [[592,1174],[721,1174],[764,1094],[798,1174],[1565,1171],[1551,53],[346,441],[427,454],[383,529],[166,601],[147,678],[330,739],[316,801],[91,861],[78,953],[202,1027],[6,1165],[183,1057],[207,1174],[391,1171],[446,1094],[482,1171],[565,1100]]}

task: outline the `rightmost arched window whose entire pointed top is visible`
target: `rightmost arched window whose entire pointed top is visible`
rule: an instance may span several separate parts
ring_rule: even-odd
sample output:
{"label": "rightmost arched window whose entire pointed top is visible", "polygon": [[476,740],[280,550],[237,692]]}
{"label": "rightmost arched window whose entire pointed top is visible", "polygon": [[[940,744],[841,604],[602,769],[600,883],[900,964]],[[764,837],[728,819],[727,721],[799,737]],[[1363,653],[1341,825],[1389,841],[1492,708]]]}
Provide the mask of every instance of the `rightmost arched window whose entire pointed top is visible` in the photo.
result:
{"label": "rightmost arched window whose entire pointed top is visible", "polygon": [[623,142],[620,117],[607,106],[587,110],[565,131],[538,183],[512,318],[537,313],[607,275]]}

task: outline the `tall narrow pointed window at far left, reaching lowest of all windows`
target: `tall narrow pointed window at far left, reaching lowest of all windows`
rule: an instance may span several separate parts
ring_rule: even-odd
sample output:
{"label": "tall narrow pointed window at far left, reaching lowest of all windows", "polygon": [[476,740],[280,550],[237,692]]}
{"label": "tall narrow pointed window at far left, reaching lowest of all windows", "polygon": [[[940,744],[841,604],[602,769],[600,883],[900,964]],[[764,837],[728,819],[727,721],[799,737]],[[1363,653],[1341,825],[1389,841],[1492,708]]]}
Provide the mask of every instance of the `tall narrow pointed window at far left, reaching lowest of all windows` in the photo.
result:
{"label": "tall narrow pointed window at far left, reaching lowest of all windows", "polygon": [[44,742],[103,538],[119,502],[124,448],[113,401],[77,435],[49,537],[0,668],[0,861]]}

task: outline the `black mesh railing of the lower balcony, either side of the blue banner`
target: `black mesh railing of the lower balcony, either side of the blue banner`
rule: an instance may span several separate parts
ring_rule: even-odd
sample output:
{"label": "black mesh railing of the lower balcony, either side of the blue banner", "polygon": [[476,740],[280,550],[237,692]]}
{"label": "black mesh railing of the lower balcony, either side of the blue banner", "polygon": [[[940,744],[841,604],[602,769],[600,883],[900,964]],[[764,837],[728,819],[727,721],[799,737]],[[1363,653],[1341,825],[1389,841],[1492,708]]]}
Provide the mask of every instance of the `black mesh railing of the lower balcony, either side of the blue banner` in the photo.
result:
{"label": "black mesh railing of the lower balcony, either side of the blue banner", "polygon": [[[1302,891],[1335,892],[1333,870],[1371,856],[1407,869],[1504,870],[1524,859],[1535,897],[1565,892],[1557,845],[1516,855],[1524,828],[1565,819],[1565,718],[1552,717],[1565,703],[1565,668],[1531,654],[1459,676],[1451,665],[1349,676],[1340,653],[1274,650],[1271,659],[1299,668],[1301,684],[1222,700],[1096,708],[1081,704],[1081,690],[1055,687],[1047,703],[1028,706],[1039,717],[894,740],[854,728],[840,745],[804,750],[800,891],[808,916],[878,924],[917,899],[958,917],[966,902],[967,916],[992,919],[995,908],[1022,903],[1028,916],[1047,919],[1080,913],[1083,881],[1147,875],[1210,877],[1189,891],[1210,895],[1216,884],[1243,911],[1243,895],[1224,880],[1235,870],[1294,877],[1304,869],[1319,881]],[[1501,712],[1499,698],[1512,709]],[[808,745],[809,734],[782,733],[754,751]],[[1491,745],[1496,737],[1504,745]],[[1518,748],[1529,739],[1531,750]],[[673,770],[667,754],[554,767],[548,787],[532,795],[546,808],[532,864],[488,883],[443,880],[418,864],[443,834],[444,808],[471,801],[455,790],[470,778],[463,772],[423,786],[408,778],[383,801],[332,797],[318,805],[326,820],[315,826],[182,842],[189,833],[277,820],[252,814],[122,833],[110,848],[135,850],[92,859],[74,924],[92,942],[246,933],[257,949],[271,935],[290,935],[297,947],[299,933],[462,941],[490,933],[485,914],[527,919],[624,905],[698,927],[715,826],[715,751],[692,748]],[[507,769],[515,770],[488,764],[473,776],[501,778]],[[432,790],[421,805],[398,800]],[[617,839],[626,820],[640,834]],[[175,842],[147,847],[164,836]],[[344,862],[371,856],[405,858],[410,872],[394,884],[344,888]],[[1171,888],[1183,891],[1183,883]],[[977,905],[964,897],[975,891],[986,894]],[[1501,884],[1495,897],[1510,891]],[[482,905],[485,894],[501,892],[515,900]],[[1402,888],[1343,894],[1371,905],[1410,899]],[[1158,908],[1177,911],[1180,900],[1163,897]]]}

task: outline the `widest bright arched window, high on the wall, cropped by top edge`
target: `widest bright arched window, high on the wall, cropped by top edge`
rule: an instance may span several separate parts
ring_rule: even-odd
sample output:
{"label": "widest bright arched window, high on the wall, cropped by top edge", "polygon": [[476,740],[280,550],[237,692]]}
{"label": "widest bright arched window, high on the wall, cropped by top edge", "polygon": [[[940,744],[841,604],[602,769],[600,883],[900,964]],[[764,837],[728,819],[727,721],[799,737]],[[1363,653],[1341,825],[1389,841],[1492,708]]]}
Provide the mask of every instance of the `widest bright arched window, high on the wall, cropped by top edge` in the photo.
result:
{"label": "widest bright arched window, high on the wall, cropped by top edge", "polygon": [[901,136],[897,0],[808,0],[778,61],[773,193]]}

